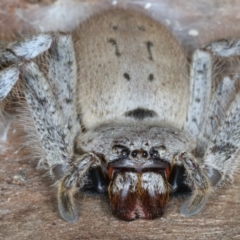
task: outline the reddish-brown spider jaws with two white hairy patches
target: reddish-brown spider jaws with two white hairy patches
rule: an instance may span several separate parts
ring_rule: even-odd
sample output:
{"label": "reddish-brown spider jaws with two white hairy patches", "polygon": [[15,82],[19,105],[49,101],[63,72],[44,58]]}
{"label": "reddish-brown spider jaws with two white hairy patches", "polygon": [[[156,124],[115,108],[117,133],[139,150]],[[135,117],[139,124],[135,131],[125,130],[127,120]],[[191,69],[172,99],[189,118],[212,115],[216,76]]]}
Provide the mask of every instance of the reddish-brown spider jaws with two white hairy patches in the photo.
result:
{"label": "reddish-brown spider jaws with two white hairy patches", "polygon": [[119,172],[108,189],[113,214],[125,221],[161,217],[169,192],[166,179],[156,172]]}

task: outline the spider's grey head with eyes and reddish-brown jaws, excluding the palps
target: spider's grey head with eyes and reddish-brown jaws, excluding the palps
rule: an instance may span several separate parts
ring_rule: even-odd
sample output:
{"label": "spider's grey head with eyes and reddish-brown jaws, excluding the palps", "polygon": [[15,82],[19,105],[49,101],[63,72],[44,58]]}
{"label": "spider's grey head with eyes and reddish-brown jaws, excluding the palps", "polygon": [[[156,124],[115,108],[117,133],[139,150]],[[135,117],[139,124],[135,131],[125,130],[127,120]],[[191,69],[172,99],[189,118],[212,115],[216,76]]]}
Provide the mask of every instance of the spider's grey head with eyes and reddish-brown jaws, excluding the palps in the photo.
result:
{"label": "spider's grey head with eyes and reddish-brown jaws, excluding the palps", "polygon": [[107,181],[96,177],[101,171],[91,171],[95,189],[99,182],[107,183],[113,214],[128,221],[163,215],[170,193],[184,185],[185,171],[179,171],[175,156],[181,149],[192,149],[194,142],[181,131],[159,126],[108,125],[79,139],[83,152],[103,156],[100,165]]}

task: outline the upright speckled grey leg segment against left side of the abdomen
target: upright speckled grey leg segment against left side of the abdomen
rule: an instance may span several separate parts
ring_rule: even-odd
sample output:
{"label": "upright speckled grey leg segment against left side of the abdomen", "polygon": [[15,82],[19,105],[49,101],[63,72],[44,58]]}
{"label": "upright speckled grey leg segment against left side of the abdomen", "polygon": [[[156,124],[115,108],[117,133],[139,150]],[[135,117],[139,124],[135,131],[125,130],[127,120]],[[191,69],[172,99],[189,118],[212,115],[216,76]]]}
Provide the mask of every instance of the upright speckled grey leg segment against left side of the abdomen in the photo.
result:
{"label": "upright speckled grey leg segment against left side of the abdomen", "polygon": [[68,139],[72,144],[80,132],[76,109],[77,70],[72,38],[67,34],[58,35],[49,49],[48,59],[48,81],[68,127]]}

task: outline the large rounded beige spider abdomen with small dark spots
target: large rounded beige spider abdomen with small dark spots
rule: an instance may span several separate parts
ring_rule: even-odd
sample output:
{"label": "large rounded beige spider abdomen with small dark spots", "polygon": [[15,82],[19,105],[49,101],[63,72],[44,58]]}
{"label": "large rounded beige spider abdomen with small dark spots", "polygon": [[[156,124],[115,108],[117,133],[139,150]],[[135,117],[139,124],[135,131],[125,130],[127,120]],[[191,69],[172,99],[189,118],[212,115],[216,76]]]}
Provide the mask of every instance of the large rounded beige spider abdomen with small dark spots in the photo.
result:
{"label": "large rounded beige spider abdomen with small dark spots", "polygon": [[85,128],[131,119],[167,119],[182,127],[189,92],[186,57],[164,26],[139,12],[115,9],[90,18],[73,37]]}

